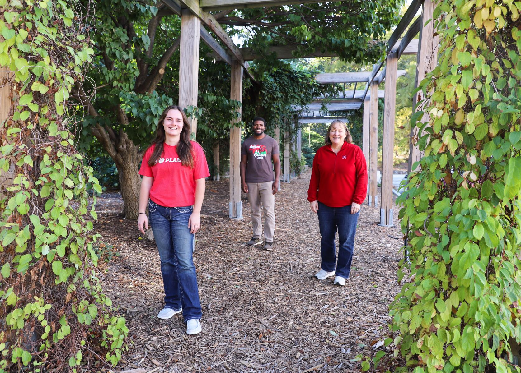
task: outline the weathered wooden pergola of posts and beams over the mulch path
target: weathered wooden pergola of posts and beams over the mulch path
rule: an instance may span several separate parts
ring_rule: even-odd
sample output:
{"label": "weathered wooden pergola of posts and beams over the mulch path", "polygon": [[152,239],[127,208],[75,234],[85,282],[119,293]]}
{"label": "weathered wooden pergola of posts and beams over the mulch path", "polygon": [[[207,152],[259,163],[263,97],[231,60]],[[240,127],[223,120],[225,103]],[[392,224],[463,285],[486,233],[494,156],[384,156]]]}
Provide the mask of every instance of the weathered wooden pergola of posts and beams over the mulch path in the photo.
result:
{"label": "weathered wooden pergola of posts and beams over the mulch path", "polygon": [[[220,60],[231,65],[231,94],[233,100],[242,101],[242,79],[243,74],[249,75],[247,71],[248,60],[253,60],[262,56],[257,56],[248,48],[238,48],[235,46],[231,37],[221,27],[209,11],[271,7],[289,4],[316,3],[317,0],[163,0],[173,13],[181,17],[181,36],[180,36],[180,68],[179,68],[179,106],[197,106],[197,86],[199,72],[199,50],[200,40],[202,39],[210,48],[215,56]],[[423,6],[421,17],[412,25],[416,12]],[[421,81],[426,72],[432,70],[437,63],[437,39],[433,36],[433,22],[424,25],[424,21],[432,18],[434,9],[432,0],[413,0],[405,15],[391,35],[385,66],[383,61],[375,65],[373,71],[356,73],[352,76],[328,76],[320,74],[317,80],[320,83],[365,83],[362,94],[353,90],[352,99],[358,101],[356,105],[362,106],[364,110],[364,134],[363,150],[369,166],[369,205],[377,207],[377,133],[378,133],[378,84],[386,79],[385,85],[385,112],[383,123],[383,161],[382,161],[382,197],[381,197],[381,225],[392,225],[392,165],[393,165],[393,139],[394,139],[394,108],[396,94],[396,62],[402,54],[417,53],[416,85]],[[408,31],[402,37],[402,33]],[[223,48],[208,31],[213,32],[218,40],[224,45]],[[420,33],[419,44],[413,41],[417,33]],[[270,53],[276,52],[278,58],[294,58],[292,50],[287,46],[272,47]],[[305,57],[325,57],[328,54],[315,51]],[[382,69],[383,67],[383,69]],[[0,69],[0,80],[7,75],[7,71]],[[340,81],[338,81],[340,79]],[[2,96],[8,97],[8,87],[2,88]],[[368,94],[369,93],[369,94]],[[349,97],[347,97],[349,99]],[[345,99],[345,97],[343,97]],[[319,102],[314,102],[318,104]],[[343,102],[347,104],[348,102]],[[0,122],[7,118],[9,105],[6,100],[0,102]],[[340,108],[342,102],[331,104]],[[353,109],[356,105],[353,105]],[[331,107],[333,109],[333,107]],[[344,109],[338,109],[344,110]],[[426,114],[427,115],[427,114]],[[315,120],[326,120],[328,118],[316,118]],[[301,119],[311,120],[308,119]],[[197,133],[197,123],[191,121],[192,132]],[[280,137],[278,128],[276,137]],[[289,181],[289,133],[284,134],[284,170],[286,181]],[[300,136],[297,136],[300,138]],[[241,189],[240,189],[240,147],[241,147],[241,128],[233,126],[230,129],[230,218],[242,218]],[[298,146],[300,148],[300,146]],[[217,149],[218,151],[218,149]],[[287,163],[286,163],[287,155]],[[411,159],[414,163],[419,158],[419,152],[411,146]],[[411,164],[412,164],[411,163]],[[4,174],[3,177],[9,177]]]}

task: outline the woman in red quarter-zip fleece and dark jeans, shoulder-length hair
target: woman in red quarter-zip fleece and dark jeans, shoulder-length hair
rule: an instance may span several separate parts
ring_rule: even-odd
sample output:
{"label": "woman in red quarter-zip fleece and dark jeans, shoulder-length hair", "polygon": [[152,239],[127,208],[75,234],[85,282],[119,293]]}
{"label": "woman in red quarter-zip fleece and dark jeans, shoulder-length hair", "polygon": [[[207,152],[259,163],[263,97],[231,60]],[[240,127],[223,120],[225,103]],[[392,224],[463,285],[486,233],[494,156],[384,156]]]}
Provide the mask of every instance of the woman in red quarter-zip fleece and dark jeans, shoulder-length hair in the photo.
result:
{"label": "woman in red quarter-zip fleece and dark jeans, shoulder-length hair", "polygon": [[[344,286],[351,270],[358,212],[367,194],[367,164],[344,122],[337,119],[329,125],[325,143],[313,159],[307,190],[321,236],[321,269],[315,277],[336,275],[333,284]],[[335,271],[337,230],[340,245]]]}

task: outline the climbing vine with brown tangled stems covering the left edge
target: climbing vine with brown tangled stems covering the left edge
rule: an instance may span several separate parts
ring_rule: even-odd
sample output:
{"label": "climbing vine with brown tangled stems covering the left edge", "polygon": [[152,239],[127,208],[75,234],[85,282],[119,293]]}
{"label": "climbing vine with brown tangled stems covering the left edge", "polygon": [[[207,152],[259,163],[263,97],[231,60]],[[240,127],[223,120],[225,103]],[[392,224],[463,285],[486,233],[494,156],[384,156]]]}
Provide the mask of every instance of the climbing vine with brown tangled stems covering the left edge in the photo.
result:
{"label": "climbing vine with brown tangled stems covering the left edge", "polygon": [[89,6],[0,0],[0,85],[11,88],[0,172],[14,165],[0,195],[0,372],[116,365],[128,334],[96,272],[87,187],[101,187],[69,131],[71,88],[93,55]]}

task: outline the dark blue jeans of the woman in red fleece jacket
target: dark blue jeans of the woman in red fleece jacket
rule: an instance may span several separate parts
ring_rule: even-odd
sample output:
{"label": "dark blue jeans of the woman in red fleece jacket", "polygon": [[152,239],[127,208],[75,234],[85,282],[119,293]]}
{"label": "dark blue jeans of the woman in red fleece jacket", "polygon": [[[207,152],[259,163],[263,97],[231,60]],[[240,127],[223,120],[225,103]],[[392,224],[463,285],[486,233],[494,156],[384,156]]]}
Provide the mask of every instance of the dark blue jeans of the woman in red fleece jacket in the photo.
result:
{"label": "dark blue jeans of the woman in red fleece jacket", "polygon": [[[351,205],[344,207],[329,207],[318,202],[318,225],[320,227],[320,267],[324,271],[336,272],[337,276],[349,278],[356,233],[358,214],[351,213]],[[338,230],[339,249],[336,263],[336,248],[334,235]]]}

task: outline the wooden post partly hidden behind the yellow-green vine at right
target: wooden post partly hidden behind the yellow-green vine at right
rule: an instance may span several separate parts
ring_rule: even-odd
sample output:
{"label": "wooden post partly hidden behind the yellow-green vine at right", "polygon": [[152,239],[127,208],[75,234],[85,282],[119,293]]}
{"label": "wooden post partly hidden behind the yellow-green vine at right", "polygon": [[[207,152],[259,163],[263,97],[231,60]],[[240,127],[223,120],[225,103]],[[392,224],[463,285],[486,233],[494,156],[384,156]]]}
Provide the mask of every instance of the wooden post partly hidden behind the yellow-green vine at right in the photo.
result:
{"label": "wooden post partly hidden behind the yellow-green vine at right", "polygon": [[[415,87],[425,78],[425,75],[432,71],[436,65],[438,64],[438,36],[434,36],[434,21],[432,20],[432,13],[434,8],[436,7],[435,3],[432,0],[425,0],[423,5],[423,13],[422,24],[427,20],[431,20],[429,23],[424,25],[420,29],[420,43],[418,46],[418,55],[417,55],[417,63],[416,63],[416,79],[415,79]],[[419,96],[419,100],[417,100]],[[417,102],[424,99],[423,92],[418,92],[413,96],[413,113],[414,107]],[[421,122],[427,122],[429,120],[429,114],[425,113]],[[417,145],[413,144],[413,140],[417,137],[420,137],[421,134],[418,134],[418,127],[411,128],[411,142],[409,143],[409,163],[408,163],[408,171],[411,172],[413,170],[413,165],[415,162],[421,159],[421,152],[418,149]]]}

